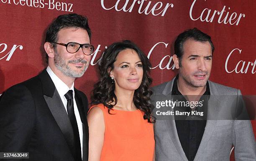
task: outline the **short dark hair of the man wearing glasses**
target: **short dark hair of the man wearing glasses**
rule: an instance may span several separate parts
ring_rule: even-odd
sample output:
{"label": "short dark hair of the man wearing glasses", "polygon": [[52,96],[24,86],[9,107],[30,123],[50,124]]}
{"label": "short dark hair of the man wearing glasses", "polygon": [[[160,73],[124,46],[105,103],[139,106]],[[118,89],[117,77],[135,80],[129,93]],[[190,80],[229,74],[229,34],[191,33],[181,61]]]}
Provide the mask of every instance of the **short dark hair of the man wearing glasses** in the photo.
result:
{"label": "short dark hair of the man wearing glasses", "polygon": [[[91,40],[91,30],[89,28],[88,20],[82,15],[76,13],[70,13],[66,15],[59,15],[49,26],[46,31],[45,42],[52,44],[53,48],[56,48],[56,44],[53,42],[57,40],[57,34],[63,28],[83,28],[87,31]],[[46,62],[48,63],[48,55],[46,54]]]}

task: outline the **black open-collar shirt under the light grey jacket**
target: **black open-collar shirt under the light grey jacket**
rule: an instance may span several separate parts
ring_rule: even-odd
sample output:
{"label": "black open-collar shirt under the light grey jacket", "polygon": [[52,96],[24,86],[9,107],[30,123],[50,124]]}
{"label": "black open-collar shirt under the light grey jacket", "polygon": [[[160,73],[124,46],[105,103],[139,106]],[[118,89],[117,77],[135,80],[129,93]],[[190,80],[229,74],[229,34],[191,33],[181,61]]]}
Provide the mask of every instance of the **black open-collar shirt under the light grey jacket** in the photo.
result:
{"label": "black open-collar shirt under the light grey jacket", "polygon": [[[178,75],[174,79],[174,84],[172,87],[173,101],[187,101],[185,97],[179,92],[177,80]],[[174,115],[179,141],[189,161],[194,160],[197,150],[200,146],[202,136],[205,132],[207,118],[207,102],[209,98],[210,87],[207,81],[205,93],[202,95],[202,97],[200,97],[200,101],[203,101],[203,106],[195,108],[197,112],[204,112],[204,116]],[[180,112],[192,111],[190,107],[174,107],[174,113],[176,110],[179,110]]]}

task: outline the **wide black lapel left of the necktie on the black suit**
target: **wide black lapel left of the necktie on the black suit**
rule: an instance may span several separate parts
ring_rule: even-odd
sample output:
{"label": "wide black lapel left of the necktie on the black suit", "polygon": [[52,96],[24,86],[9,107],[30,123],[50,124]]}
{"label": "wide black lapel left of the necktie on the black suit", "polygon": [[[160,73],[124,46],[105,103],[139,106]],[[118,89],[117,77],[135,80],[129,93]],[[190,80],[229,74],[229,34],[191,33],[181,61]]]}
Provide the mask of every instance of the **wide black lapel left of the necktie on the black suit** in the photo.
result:
{"label": "wide black lapel left of the necktie on the black suit", "polygon": [[64,138],[69,146],[71,153],[74,155],[74,133],[72,129],[72,125],[70,123],[69,117],[67,115],[67,111],[59,97],[59,93],[57,92],[54,83],[51,80],[51,77],[47,73],[46,69],[39,74],[39,78],[42,82],[44,99],[53,115],[56,123],[58,124],[61,132],[64,135]]}

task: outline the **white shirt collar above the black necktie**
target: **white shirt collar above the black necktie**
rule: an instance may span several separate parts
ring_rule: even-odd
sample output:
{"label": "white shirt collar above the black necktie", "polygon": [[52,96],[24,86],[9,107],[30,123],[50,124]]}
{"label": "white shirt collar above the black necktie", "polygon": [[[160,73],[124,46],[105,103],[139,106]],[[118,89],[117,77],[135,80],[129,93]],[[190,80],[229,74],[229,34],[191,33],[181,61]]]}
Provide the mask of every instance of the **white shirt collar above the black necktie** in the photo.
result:
{"label": "white shirt collar above the black necktie", "polygon": [[50,66],[47,66],[46,71],[51,77],[52,82],[54,82],[54,85],[60,95],[60,97],[64,96],[69,90],[73,91],[73,97],[74,97],[74,82],[72,84],[72,87],[69,88],[67,84],[65,84],[61,79],[59,79],[56,74],[51,70]]}

